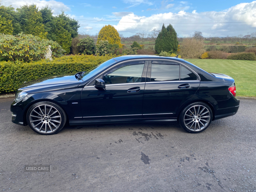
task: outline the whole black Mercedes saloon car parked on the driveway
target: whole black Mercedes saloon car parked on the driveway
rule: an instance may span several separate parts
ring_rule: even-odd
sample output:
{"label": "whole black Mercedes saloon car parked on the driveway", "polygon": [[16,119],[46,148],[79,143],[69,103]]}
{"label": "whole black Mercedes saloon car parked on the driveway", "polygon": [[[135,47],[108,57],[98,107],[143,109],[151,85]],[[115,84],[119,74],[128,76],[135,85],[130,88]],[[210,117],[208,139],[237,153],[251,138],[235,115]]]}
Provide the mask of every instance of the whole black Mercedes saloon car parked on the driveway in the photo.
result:
{"label": "whole black Mercedes saloon car parked on the driveway", "polygon": [[25,82],[11,105],[12,122],[45,135],[66,123],[171,121],[199,133],[238,108],[231,77],[153,55],[121,56],[89,71]]}

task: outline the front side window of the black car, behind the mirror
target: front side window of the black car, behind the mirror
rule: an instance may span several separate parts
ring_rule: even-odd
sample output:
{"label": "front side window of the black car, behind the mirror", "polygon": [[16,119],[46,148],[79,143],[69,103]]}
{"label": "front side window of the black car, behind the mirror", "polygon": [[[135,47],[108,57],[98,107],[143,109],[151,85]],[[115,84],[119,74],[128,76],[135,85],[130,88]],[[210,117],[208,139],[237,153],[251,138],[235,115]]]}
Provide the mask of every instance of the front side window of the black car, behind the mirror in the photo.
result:
{"label": "front side window of the black car, behind the mirror", "polygon": [[140,83],[144,64],[119,67],[103,77],[105,84]]}

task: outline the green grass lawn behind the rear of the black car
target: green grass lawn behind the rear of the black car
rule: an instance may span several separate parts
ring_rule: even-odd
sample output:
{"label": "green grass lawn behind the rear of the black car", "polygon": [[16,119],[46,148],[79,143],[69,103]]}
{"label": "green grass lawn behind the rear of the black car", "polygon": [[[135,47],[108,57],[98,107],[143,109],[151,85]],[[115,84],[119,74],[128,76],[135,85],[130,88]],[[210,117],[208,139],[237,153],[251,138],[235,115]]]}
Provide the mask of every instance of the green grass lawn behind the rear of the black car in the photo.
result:
{"label": "green grass lawn behind the rear of the black car", "polygon": [[236,96],[256,97],[256,61],[186,59],[212,73],[226,74],[236,81]]}

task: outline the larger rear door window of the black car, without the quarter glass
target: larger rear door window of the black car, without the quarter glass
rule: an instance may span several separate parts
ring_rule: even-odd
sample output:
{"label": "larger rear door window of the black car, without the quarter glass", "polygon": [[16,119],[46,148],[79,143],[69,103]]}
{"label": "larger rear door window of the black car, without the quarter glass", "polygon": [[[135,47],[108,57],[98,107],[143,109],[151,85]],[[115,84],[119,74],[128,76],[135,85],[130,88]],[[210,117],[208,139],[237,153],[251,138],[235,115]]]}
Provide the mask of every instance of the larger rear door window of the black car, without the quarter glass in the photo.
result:
{"label": "larger rear door window of the black car, without the quarter glass", "polygon": [[175,81],[180,78],[180,65],[152,64],[152,81]]}

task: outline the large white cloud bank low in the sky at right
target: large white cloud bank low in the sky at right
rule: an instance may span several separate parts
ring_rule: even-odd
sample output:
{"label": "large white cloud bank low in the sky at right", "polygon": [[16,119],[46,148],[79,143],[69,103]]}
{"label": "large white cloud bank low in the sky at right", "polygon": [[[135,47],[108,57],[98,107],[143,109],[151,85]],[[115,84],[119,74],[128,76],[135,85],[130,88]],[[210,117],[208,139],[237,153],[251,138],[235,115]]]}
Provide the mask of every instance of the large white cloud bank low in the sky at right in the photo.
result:
{"label": "large white cloud bank low in the sky at right", "polygon": [[[186,3],[186,2],[182,2]],[[251,3],[240,3],[221,12],[201,12],[196,10],[185,12],[184,10],[173,13],[160,13],[149,17],[125,15],[114,27],[119,32],[139,32],[161,29],[162,23],[171,23],[178,35],[187,36],[194,31],[203,32],[204,36],[227,36],[239,35],[247,32],[255,32],[256,23],[224,23],[224,22],[255,22],[256,21],[256,1]],[[124,23],[123,23],[124,22]],[[132,22],[132,23],[125,23]],[[133,23],[134,22],[134,23]],[[176,24],[177,23],[177,24]],[[188,23],[188,24],[182,24]],[[193,24],[207,23],[207,24]],[[212,24],[211,24],[212,23]],[[214,24],[215,23],[215,24]]]}

